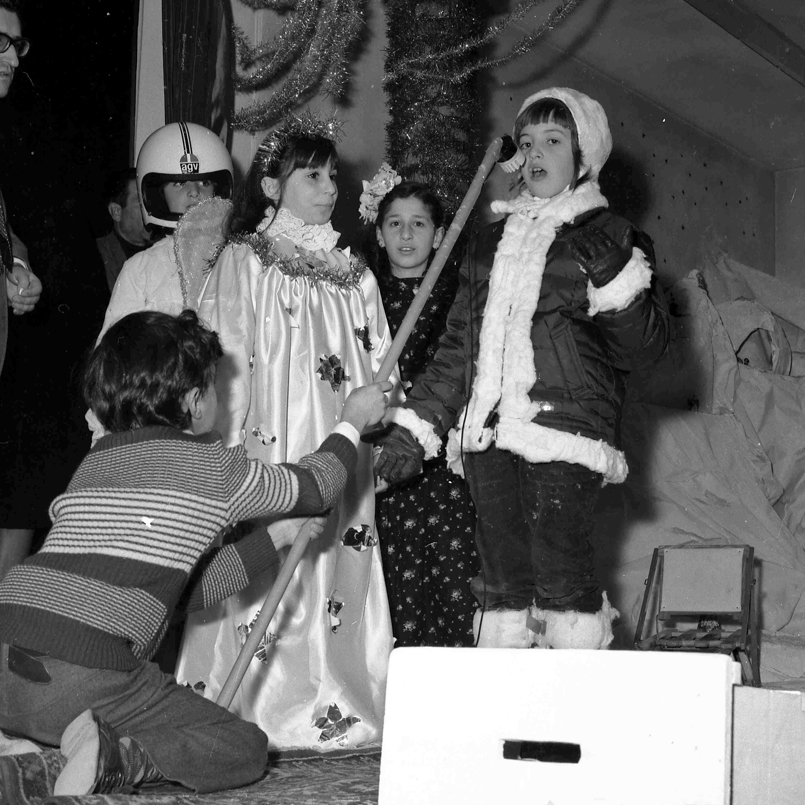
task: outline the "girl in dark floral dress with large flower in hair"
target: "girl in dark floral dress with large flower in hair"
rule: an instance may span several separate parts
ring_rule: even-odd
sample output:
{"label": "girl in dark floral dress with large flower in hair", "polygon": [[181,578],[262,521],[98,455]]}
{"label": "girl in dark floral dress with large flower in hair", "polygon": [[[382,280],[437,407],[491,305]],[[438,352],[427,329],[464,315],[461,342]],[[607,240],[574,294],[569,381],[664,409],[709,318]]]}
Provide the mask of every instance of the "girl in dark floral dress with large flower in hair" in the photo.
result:
{"label": "girl in dark floral dress with large flower in hair", "polygon": [[[430,188],[399,184],[383,196],[375,221],[378,278],[391,332],[396,333],[444,237],[444,209]],[[408,388],[436,353],[457,275],[440,275],[399,359]],[[477,575],[475,512],[464,479],[444,453],[423,474],[377,497],[376,522],[396,646],[471,646]]]}

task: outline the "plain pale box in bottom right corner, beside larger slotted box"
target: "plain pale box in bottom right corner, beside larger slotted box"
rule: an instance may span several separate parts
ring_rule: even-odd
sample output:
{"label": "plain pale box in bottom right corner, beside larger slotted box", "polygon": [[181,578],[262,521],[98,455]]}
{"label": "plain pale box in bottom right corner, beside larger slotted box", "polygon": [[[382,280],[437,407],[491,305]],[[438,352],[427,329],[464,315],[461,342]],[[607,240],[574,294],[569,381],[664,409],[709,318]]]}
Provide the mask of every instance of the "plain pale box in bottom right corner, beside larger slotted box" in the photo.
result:
{"label": "plain pale box in bottom right corner, beside larger slotted box", "polygon": [[733,805],[805,802],[803,711],[802,691],[735,688]]}

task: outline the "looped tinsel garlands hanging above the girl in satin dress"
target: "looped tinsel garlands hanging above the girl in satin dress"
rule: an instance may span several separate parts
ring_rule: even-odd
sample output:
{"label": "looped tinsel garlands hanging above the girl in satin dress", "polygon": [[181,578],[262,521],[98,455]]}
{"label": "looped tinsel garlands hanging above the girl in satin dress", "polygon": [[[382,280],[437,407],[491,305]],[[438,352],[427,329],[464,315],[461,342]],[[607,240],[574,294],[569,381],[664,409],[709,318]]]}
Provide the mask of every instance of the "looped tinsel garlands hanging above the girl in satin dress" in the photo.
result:
{"label": "looped tinsel garlands hanging above the girl in satin dress", "polygon": [[345,87],[349,51],[363,28],[365,0],[241,0],[254,9],[286,14],[279,34],[253,46],[235,28],[237,62],[235,89],[266,89],[283,79],[266,101],[235,113],[233,126],[262,131],[321,90],[339,97]]}

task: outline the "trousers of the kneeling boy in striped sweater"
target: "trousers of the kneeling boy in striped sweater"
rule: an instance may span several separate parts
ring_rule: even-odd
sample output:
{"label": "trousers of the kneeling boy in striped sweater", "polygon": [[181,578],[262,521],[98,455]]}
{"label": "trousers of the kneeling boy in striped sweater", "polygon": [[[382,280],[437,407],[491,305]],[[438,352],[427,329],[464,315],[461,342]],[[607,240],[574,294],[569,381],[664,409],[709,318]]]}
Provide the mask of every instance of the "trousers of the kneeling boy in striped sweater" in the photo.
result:
{"label": "trousers of the kneeling boy in striped sweater", "polygon": [[86,709],[137,740],[167,780],[200,794],[246,785],[265,770],[261,729],[180,687],[155,663],[109,671],[0,644],[3,732],[58,746]]}

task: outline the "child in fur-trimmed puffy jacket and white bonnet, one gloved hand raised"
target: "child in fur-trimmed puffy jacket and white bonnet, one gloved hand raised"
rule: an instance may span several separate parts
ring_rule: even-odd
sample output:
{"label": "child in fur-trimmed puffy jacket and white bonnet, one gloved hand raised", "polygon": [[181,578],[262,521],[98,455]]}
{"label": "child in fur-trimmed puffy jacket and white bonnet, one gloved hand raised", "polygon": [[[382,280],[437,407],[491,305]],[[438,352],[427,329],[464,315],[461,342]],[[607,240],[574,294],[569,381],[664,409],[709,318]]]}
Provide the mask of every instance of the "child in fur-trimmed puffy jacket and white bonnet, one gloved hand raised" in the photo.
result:
{"label": "child in fur-trimmed puffy jacket and white bonnet, one gloved hand raised", "polygon": [[[617,610],[589,537],[630,370],[663,356],[667,309],[650,238],[607,210],[604,109],[544,89],[514,122],[518,195],[471,243],[447,330],[394,409],[375,472],[411,477],[448,430],[477,509],[477,646],[605,648]],[[452,428],[452,430],[451,430]]]}

